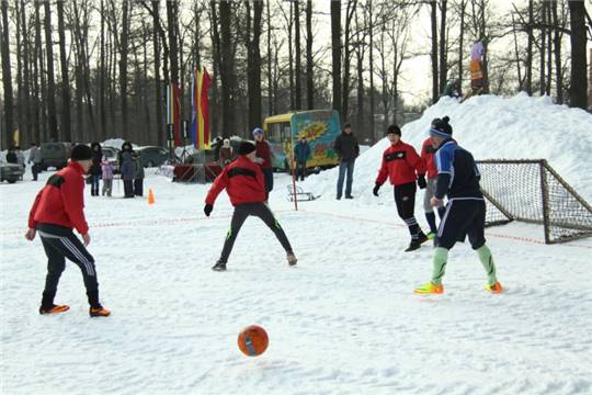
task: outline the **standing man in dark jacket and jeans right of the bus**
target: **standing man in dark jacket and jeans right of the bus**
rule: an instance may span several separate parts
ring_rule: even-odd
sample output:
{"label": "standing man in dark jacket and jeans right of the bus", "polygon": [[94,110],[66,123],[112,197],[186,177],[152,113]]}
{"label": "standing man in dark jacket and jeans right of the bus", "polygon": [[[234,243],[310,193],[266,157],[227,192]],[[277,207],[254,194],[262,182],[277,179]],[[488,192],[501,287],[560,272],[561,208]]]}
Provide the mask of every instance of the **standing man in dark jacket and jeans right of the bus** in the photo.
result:
{"label": "standing man in dark jacket and jeans right of the bus", "polygon": [[339,157],[339,178],[337,200],[340,200],[343,193],[343,180],[345,174],[348,181],[345,183],[345,199],[353,199],[352,182],[355,158],[360,155],[360,145],[352,133],[352,125],[346,123],[343,126],[343,132],[335,138],[333,149]]}

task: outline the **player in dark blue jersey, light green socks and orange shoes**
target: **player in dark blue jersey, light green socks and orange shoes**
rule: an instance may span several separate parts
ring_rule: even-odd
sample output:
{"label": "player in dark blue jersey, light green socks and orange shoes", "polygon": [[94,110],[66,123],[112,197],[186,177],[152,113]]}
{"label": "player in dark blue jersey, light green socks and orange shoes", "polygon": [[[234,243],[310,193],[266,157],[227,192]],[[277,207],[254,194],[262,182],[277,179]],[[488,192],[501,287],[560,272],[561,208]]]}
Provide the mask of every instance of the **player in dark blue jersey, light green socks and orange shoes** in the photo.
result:
{"label": "player in dark blue jersey, light green socks and orange shoes", "polygon": [[444,292],[442,278],[448,261],[448,250],[456,241],[464,241],[468,235],[470,246],[481,261],[488,278],[486,290],[492,293],[503,291],[496,275],[496,264],[491,251],[486,246],[486,204],[479,179],[479,169],[473,155],[460,148],[452,139],[453,128],[444,116],[430,128],[437,163],[437,182],[431,202],[437,206],[444,195],[448,195],[446,213],[437,229],[436,248],[433,258],[432,280],[415,289],[418,294],[441,294]]}

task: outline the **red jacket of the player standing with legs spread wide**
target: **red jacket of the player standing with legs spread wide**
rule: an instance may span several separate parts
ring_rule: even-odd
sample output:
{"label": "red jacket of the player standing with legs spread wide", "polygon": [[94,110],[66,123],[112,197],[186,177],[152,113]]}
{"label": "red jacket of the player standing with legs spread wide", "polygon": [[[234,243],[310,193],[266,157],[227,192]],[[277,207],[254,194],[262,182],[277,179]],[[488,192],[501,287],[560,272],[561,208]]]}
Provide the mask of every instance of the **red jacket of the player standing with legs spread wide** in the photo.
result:
{"label": "red jacket of the player standing with legs spread wide", "polygon": [[206,203],[214,205],[216,198],[225,188],[234,206],[266,200],[263,171],[246,156],[239,156],[216,177],[207,193]]}

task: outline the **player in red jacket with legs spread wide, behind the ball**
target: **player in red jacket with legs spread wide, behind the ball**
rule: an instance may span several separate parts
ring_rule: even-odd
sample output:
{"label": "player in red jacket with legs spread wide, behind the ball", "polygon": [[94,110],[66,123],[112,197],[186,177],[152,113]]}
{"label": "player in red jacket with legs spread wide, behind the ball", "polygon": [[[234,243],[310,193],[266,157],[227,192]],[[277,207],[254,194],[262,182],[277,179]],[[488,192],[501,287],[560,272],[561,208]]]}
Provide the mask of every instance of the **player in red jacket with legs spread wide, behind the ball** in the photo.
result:
{"label": "player in red jacket with legs spread wide, behind the ball", "polygon": [[218,259],[212,270],[226,270],[226,262],[232,251],[238,233],[250,215],[260,217],[272,229],[286,251],[289,266],[295,266],[297,262],[296,256],[292,251],[292,246],[284,229],[282,229],[267,205],[263,203],[266,201],[266,192],[263,172],[254,161],[257,155],[255,146],[250,142],[242,142],[238,149],[238,158],[228,165],[216,178],[206,196],[204,207],[206,216],[209,216],[214,210],[214,202],[225,188],[230,198],[230,203],[235,206],[230,229],[224,242],[220,259]]}

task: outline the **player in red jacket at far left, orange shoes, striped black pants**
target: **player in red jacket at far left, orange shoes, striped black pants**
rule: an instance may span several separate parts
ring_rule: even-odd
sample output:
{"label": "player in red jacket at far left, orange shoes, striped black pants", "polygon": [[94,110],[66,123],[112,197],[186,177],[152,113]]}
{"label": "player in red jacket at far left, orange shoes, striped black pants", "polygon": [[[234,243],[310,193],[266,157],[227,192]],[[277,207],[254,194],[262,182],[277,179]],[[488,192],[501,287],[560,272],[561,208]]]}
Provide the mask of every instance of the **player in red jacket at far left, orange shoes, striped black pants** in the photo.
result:
{"label": "player in red jacket at far left, orange shoes, striped black pants", "polygon": [[[33,240],[38,233],[47,255],[47,276],[43,291],[39,314],[67,312],[67,305],[54,304],[57,285],[66,258],[78,264],[82,271],[91,317],[106,317],[111,312],[99,302],[99,283],[94,259],[87,250],[90,242],[89,225],[84,218],[84,178],[92,165],[92,150],[86,145],[77,145],[70,155],[68,166],[47,180],[47,184],[37,193],[29,214],[26,239]],[[76,228],[82,240],[75,236]]]}

